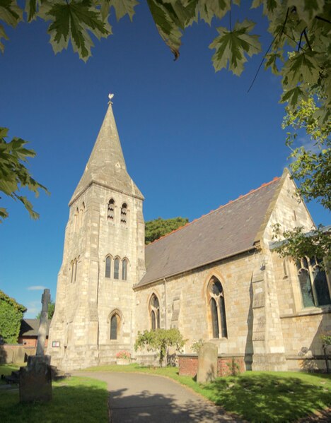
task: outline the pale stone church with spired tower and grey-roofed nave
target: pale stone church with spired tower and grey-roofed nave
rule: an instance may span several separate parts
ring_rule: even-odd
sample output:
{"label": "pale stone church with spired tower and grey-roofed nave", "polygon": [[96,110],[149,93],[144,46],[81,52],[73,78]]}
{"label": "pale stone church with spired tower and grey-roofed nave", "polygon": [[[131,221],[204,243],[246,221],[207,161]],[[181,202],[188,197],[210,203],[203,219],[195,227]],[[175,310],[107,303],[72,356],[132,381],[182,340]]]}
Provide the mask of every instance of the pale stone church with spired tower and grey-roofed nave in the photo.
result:
{"label": "pale stone church with spired tower and grey-roofed nave", "polygon": [[[47,354],[64,370],[115,362],[139,331],[178,328],[246,369],[323,367],[331,280],[318,258],[273,251],[272,228],[314,223],[284,171],[245,196],[145,246],[144,196],[127,172],[110,102],[69,201]],[[325,364],[324,364],[325,365]]]}

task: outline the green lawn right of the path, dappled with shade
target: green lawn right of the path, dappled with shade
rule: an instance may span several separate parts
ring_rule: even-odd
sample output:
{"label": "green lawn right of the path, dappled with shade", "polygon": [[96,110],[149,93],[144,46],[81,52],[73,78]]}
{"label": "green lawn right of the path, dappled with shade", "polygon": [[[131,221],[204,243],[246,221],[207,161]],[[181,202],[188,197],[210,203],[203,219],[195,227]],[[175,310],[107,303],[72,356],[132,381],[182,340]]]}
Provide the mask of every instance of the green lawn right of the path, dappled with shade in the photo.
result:
{"label": "green lawn right of the path, dappled with shade", "polygon": [[246,371],[202,385],[190,376],[179,376],[176,367],[129,364],[87,370],[138,371],[168,376],[249,422],[296,422],[317,410],[331,407],[331,375],[326,374]]}

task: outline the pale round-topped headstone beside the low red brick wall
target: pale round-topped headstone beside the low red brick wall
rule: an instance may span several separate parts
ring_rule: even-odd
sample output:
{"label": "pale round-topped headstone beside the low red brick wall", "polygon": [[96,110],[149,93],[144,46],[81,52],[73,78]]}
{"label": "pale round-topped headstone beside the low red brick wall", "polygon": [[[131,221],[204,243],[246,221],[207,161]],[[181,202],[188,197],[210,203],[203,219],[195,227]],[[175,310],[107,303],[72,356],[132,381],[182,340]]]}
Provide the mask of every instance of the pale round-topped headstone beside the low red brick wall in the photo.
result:
{"label": "pale round-topped headstone beside the low red brick wall", "polygon": [[197,382],[206,383],[214,381],[217,376],[217,347],[211,342],[206,342],[199,350]]}

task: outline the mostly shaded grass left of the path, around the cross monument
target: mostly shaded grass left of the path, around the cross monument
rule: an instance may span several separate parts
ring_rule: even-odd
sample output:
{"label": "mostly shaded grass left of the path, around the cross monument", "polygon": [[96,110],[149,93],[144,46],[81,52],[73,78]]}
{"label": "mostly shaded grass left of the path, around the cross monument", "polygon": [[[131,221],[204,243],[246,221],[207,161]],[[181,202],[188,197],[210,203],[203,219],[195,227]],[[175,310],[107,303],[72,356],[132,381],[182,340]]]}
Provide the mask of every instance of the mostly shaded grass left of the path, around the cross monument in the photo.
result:
{"label": "mostly shaded grass left of the path, around the cross monument", "polygon": [[107,383],[90,378],[71,377],[53,382],[49,403],[21,404],[18,388],[1,388],[1,422],[108,423]]}

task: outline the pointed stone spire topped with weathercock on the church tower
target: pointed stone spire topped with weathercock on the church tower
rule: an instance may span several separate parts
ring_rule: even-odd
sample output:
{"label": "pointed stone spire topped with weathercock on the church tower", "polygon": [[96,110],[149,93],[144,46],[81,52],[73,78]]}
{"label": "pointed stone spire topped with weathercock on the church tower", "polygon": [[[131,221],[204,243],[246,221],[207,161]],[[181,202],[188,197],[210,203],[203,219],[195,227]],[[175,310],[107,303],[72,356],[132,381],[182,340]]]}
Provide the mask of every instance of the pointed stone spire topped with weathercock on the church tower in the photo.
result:
{"label": "pointed stone spire topped with weathercock on the church tower", "polygon": [[[110,95],[113,96],[113,95]],[[112,97],[110,97],[110,100]],[[127,173],[120,137],[118,136],[112,102],[103,119],[98,138],[95,141],[90,158],[77,185],[69,205],[92,183],[108,186],[116,191],[144,198],[134,181]]]}

